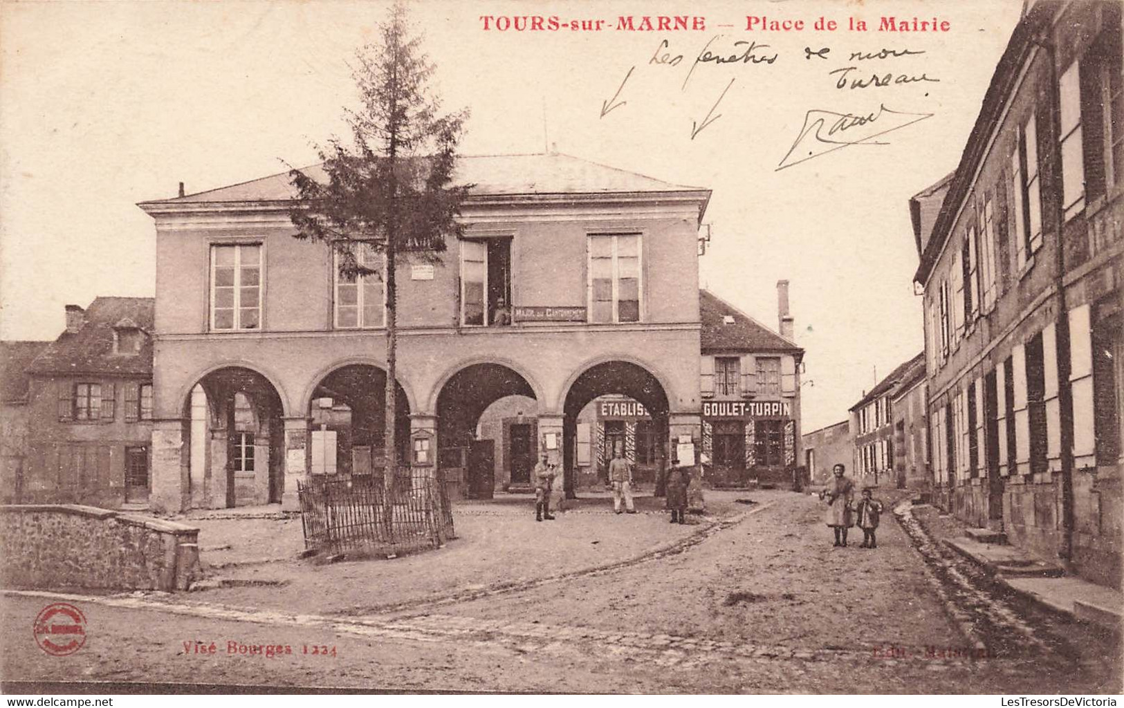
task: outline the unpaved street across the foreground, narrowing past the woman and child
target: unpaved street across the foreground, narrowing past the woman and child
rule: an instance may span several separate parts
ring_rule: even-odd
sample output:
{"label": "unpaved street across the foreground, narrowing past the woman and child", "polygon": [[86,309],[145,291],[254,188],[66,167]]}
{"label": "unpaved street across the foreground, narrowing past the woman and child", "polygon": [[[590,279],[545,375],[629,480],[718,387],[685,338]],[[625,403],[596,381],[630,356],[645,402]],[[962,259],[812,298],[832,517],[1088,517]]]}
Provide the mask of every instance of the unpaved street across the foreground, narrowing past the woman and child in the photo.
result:
{"label": "unpaved street across the foreground, narrowing past the woman and child", "polygon": [[[219,602],[207,592],[70,597],[87,614],[89,641],[65,657],[44,654],[29,630],[53,600],[9,593],[3,675],[411,691],[1120,691],[1118,646],[995,596],[962,561],[935,550],[907,506],[898,510],[909,534],[888,514],[879,547],[868,551],[832,547],[815,497],[768,497],[771,503],[696,527],[694,541],[601,570],[543,572],[377,610],[343,608],[328,587],[299,610],[248,596]],[[646,516],[646,524],[665,518]],[[559,529],[577,518],[536,532],[564,536]],[[580,523],[596,523],[608,545],[638,520],[591,515]],[[547,537],[547,570],[562,566],[551,547]],[[197,641],[215,643],[216,653],[196,653]],[[293,653],[243,654],[239,644]],[[306,654],[305,646],[335,653]]]}

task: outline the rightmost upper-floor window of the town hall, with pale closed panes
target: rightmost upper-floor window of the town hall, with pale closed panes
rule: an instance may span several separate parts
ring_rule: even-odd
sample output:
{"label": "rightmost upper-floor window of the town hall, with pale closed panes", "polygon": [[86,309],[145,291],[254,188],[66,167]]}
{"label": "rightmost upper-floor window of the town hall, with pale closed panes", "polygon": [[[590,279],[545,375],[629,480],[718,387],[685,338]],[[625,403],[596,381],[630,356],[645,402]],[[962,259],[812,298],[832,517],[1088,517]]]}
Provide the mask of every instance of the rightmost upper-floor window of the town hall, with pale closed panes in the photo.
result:
{"label": "rightmost upper-floor window of the town hall, with pale closed panes", "polygon": [[640,234],[589,237],[589,321],[641,321]]}

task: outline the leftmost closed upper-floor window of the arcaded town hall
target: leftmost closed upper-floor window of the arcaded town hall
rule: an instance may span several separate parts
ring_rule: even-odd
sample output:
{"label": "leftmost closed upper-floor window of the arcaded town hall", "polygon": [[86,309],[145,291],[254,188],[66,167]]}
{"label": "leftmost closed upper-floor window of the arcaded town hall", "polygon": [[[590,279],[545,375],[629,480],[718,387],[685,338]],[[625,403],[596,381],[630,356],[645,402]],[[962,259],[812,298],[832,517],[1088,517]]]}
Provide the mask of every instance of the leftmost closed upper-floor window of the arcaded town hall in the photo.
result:
{"label": "leftmost closed upper-floor window of the arcaded town hall", "polygon": [[262,326],[262,246],[211,246],[211,329]]}

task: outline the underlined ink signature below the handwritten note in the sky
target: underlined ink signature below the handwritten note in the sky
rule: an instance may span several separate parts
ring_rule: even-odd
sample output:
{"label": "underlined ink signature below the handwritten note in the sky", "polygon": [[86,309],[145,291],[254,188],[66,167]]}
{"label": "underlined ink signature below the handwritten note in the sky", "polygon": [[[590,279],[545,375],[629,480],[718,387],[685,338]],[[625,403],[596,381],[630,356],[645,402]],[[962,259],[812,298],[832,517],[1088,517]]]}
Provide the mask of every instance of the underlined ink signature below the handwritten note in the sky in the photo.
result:
{"label": "underlined ink signature below the handwritten note in the sky", "polygon": [[886,106],[879,106],[877,112],[865,116],[809,110],[804,116],[804,126],[796,142],[773,171],[779,172],[850,145],[889,145],[874,138],[932,117],[933,114],[909,114]]}

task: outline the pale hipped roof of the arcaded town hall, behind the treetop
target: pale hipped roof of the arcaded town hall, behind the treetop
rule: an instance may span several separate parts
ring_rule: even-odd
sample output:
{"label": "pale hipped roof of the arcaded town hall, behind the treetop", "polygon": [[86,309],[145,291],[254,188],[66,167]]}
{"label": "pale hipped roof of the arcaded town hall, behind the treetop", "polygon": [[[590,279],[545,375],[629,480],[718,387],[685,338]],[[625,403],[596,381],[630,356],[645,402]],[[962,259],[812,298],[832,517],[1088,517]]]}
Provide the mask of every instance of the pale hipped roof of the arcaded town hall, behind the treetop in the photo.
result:
{"label": "pale hipped roof of the arcaded town hall, behind the treetop", "polygon": [[[325,176],[323,164],[302,167],[301,171],[316,180]],[[457,184],[473,184],[470,193],[478,196],[708,191],[554,153],[461,156],[456,160],[454,181]],[[285,201],[296,198],[296,189],[285,171],[241,184],[156,201]]]}

